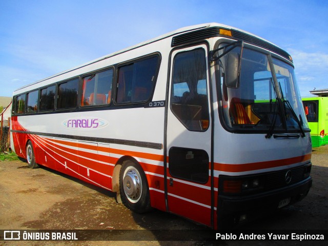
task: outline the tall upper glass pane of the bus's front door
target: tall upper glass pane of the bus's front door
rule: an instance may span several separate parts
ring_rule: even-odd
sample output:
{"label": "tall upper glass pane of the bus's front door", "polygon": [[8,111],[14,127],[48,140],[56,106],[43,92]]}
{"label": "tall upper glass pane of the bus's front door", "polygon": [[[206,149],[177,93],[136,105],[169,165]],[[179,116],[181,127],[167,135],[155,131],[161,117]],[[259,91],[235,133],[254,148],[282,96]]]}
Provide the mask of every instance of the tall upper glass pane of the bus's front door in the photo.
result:
{"label": "tall upper glass pane of the bus's front door", "polygon": [[188,130],[206,131],[210,116],[205,51],[180,52],[173,64],[171,110]]}

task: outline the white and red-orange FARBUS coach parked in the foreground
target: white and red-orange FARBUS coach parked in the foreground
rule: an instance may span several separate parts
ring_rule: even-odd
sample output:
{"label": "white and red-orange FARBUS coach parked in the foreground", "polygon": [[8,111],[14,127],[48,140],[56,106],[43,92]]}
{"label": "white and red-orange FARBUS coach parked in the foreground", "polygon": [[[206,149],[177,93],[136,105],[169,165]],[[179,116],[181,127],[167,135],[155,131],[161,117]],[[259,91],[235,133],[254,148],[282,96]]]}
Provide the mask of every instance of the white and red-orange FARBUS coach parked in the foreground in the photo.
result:
{"label": "white and red-orange FARBUS coach parked in the foreground", "polygon": [[210,228],[301,200],[311,136],[291,56],[216,23],[182,28],[13,93],[11,148]]}

